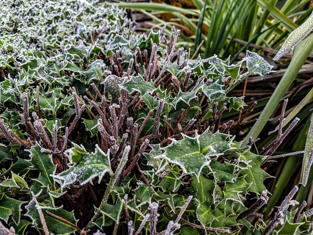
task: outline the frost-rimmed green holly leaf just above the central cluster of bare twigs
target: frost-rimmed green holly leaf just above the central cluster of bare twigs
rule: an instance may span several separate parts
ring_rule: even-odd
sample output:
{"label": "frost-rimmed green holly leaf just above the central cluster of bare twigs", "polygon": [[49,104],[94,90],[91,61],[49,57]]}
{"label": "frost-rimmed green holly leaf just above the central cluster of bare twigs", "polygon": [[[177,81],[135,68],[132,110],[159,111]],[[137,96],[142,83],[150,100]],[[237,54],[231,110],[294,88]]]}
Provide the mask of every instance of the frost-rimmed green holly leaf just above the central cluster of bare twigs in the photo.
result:
{"label": "frost-rimmed green holly leaf just above the central cluster of bare twigs", "polygon": [[134,90],[139,91],[141,95],[152,93],[155,90],[153,82],[145,81],[140,74],[138,76],[131,76],[129,81],[119,84],[119,87],[127,90],[128,92],[132,92]]}

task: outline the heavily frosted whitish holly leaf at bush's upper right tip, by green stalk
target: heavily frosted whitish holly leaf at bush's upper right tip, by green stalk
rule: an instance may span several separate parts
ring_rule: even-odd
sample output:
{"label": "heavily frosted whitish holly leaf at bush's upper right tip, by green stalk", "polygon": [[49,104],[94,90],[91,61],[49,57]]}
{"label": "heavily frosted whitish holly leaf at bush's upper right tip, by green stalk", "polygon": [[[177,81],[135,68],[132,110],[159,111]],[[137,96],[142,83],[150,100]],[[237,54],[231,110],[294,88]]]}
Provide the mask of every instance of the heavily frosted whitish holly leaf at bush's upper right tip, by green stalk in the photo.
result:
{"label": "heavily frosted whitish holly leaf at bush's upper right tip, by green stalk", "polygon": [[247,50],[243,60],[245,60],[248,69],[260,76],[273,72],[271,71],[273,66],[255,52]]}

